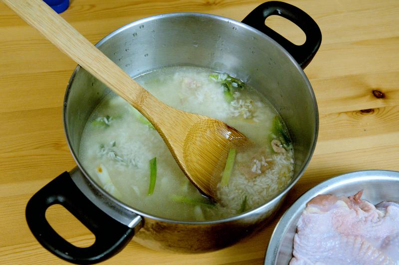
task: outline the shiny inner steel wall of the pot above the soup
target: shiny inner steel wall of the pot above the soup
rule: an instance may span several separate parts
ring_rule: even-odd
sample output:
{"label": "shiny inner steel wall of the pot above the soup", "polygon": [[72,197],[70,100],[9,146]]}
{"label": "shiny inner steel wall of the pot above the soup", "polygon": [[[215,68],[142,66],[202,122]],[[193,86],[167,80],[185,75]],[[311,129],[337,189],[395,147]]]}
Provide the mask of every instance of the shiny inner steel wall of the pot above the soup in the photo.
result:
{"label": "shiny inner steel wall of the pot above the soup", "polygon": [[[302,175],[317,138],[313,90],[294,59],[260,31],[214,15],[173,13],[128,24],[97,47],[132,77],[167,66],[197,66],[226,72],[257,89],[282,116],[293,141],[295,169],[289,187]],[[71,77],[64,126],[78,165],[83,128],[109,92],[80,67]]]}

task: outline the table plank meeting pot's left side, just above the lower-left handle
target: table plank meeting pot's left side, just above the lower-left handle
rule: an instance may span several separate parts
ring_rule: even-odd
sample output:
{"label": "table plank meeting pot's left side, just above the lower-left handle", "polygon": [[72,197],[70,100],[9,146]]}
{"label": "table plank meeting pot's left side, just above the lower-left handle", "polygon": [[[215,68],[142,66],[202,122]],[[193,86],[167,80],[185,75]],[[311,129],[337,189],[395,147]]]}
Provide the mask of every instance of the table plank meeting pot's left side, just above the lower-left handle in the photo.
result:
{"label": "table plank meeting pot's left side, just above the lower-left handle", "polygon": [[62,108],[6,112],[0,119],[0,183],[56,177],[75,166]]}

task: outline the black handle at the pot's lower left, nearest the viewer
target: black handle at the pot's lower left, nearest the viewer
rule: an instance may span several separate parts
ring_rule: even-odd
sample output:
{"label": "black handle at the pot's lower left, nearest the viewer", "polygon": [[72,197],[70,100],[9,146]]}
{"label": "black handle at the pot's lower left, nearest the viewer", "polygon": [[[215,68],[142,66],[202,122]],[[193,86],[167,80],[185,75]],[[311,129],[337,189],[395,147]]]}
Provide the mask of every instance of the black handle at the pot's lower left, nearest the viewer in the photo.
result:
{"label": "black handle at the pot's lower left, nearest the viewer", "polygon": [[[96,237],[92,246],[75,247],[63,239],[47,222],[45,213],[61,204]],[[53,179],[26,205],[26,221],[37,241],[48,251],[75,264],[94,264],[121,251],[132,239],[134,229],[116,221],[94,205],[76,186],[68,172]]]}

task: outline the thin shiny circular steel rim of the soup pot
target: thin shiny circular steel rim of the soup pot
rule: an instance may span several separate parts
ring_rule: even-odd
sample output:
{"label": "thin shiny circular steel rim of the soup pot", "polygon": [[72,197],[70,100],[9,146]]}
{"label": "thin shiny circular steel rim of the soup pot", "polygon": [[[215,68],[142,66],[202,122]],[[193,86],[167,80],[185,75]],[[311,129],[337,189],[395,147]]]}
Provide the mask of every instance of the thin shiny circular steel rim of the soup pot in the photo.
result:
{"label": "thin shiny circular steel rim of the soup pot", "polygon": [[67,107],[67,102],[68,102],[68,98],[69,98],[69,92],[71,90],[71,85],[72,82],[74,81],[74,78],[77,74],[77,72],[80,70],[81,66],[77,65],[76,68],[74,69],[72,76],[70,77],[69,81],[68,81],[68,85],[66,88],[66,92],[65,92],[65,96],[64,96],[64,104],[63,104],[63,126],[64,126],[64,133],[65,133],[65,137],[67,139],[67,143],[68,143],[68,147],[69,150],[71,151],[72,157],[75,160],[77,167],[80,169],[80,171],[83,173],[83,175],[88,179],[88,181],[90,182],[90,184],[92,184],[99,192],[101,192],[101,194],[108,198],[109,200],[111,200],[113,203],[116,203],[117,205],[123,207],[126,210],[129,210],[131,212],[134,212],[140,216],[146,217],[146,218],[151,218],[157,221],[162,221],[162,222],[168,222],[168,223],[179,223],[179,224],[187,224],[187,225],[210,225],[210,224],[218,224],[218,223],[225,223],[225,222],[230,222],[230,221],[235,221],[241,218],[245,218],[248,217],[250,215],[252,215],[255,212],[258,211],[262,211],[264,208],[267,208],[268,205],[275,203],[276,201],[279,201],[283,196],[285,196],[285,194],[292,188],[292,186],[299,180],[300,177],[302,177],[304,171],[306,170],[306,168],[309,165],[309,162],[313,156],[315,147],[316,147],[316,142],[317,142],[317,137],[318,137],[318,132],[319,132],[319,112],[318,112],[318,107],[317,107],[317,101],[316,101],[316,96],[314,94],[313,88],[309,82],[309,79],[307,78],[307,76],[305,75],[305,73],[303,72],[303,69],[299,66],[299,64],[295,61],[295,59],[291,56],[291,54],[289,54],[287,52],[287,50],[285,50],[280,44],[278,44],[275,40],[273,40],[272,38],[270,38],[269,36],[267,36],[266,34],[264,34],[263,32],[245,24],[242,22],[239,22],[237,20],[231,19],[231,18],[227,18],[227,17],[223,17],[223,16],[219,16],[219,15],[214,15],[214,14],[208,14],[208,13],[200,13],[200,12],[173,12],[173,13],[166,13],[166,14],[158,14],[158,15],[153,15],[153,16],[149,16],[149,17],[145,17],[136,21],[133,21],[131,23],[128,23],[116,30],[114,30],[113,32],[109,33],[107,36],[105,36],[104,38],[102,38],[99,42],[97,42],[95,44],[96,47],[101,46],[102,44],[104,44],[107,40],[109,40],[110,38],[114,37],[115,35],[117,35],[118,33],[120,33],[121,31],[124,31],[128,28],[137,26],[139,24],[148,22],[148,21],[152,21],[152,20],[158,20],[158,19],[162,19],[164,17],[180,17],[180,16],[196,16],[196,17],[203,17],[203,18],[212,18],[212,19],[217,19],[217,20],[221,20],[221,21],[225,21],[226,23],[229,23],[231,25],[235,25],[241,28],[244,28],[245,30],[249,30],[252,31],[253,33],[257,34],[258,36],[262,37],[262,38],[266,38],[267,41],[270,41],[271,43],[273,43],[278,49],[280,49],[287,57],[288,59],[293,63],[294,67],[297,68],[297,70],[299,71],[300,75],[302,76],[303,80],[305,81],[307,88],[309,89],[310,92],[310,96],[312,97],[312,101],[313,101],[313,108],[315,110],[315,129],[313,132],[313,137],[312,137],[312,145],[311,145],[311,149],[310,152],[306,158],[306,161],[303,165],[303,168],[298,172],[297,176],[291,181],[291,183],[289,185],[287,185],[279,194],[277,194],[276,196],[274,196],[271,200],[267,201],[266,203],[250,210],[247,212],[244,212],[242,214],[238,214],[238,215],[234,215],[228,218],[223,218],[223,219],[216,219],[216,220],[208,220],[208,221],[179,221],[179,220],[173,220],[173,219],[167,219],[167,218],[163,218],[163,217],[159,217],[159,216],[155,216],[155,215],[151,215],[148,213],[145,213],[141,210],[135,209],[127,204],[125,204],[124,202],[116,199],[115,197],[113,197],[111,194],[109,194],[108,192],[106,192],[100,185],[97,184],[97,182],[95,182],[92,177],[90,177],[90,175],[85,171],[85,169],[81,166],[77,153],[75,153],[74,149],[71,146],[71,142],[70,142],[70,138],[68,136],[67,133],[67,118],[66,118],[66,107]]}

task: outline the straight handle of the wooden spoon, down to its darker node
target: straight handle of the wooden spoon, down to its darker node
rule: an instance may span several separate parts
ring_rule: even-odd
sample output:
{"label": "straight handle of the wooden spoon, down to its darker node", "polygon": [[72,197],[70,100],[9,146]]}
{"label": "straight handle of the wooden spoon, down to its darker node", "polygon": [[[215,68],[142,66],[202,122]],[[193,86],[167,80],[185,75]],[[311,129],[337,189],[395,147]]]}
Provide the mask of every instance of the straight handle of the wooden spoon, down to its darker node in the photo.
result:
{"label": "straight handle of the wooden spoon, down to its darker node", "polygon": [[149,111],[153,111],[150,106],[145,106],[144,101],[153,107],[162,104],[42,0],[2,1],[58,49],[122,96],[145,116],[152,116]]}

